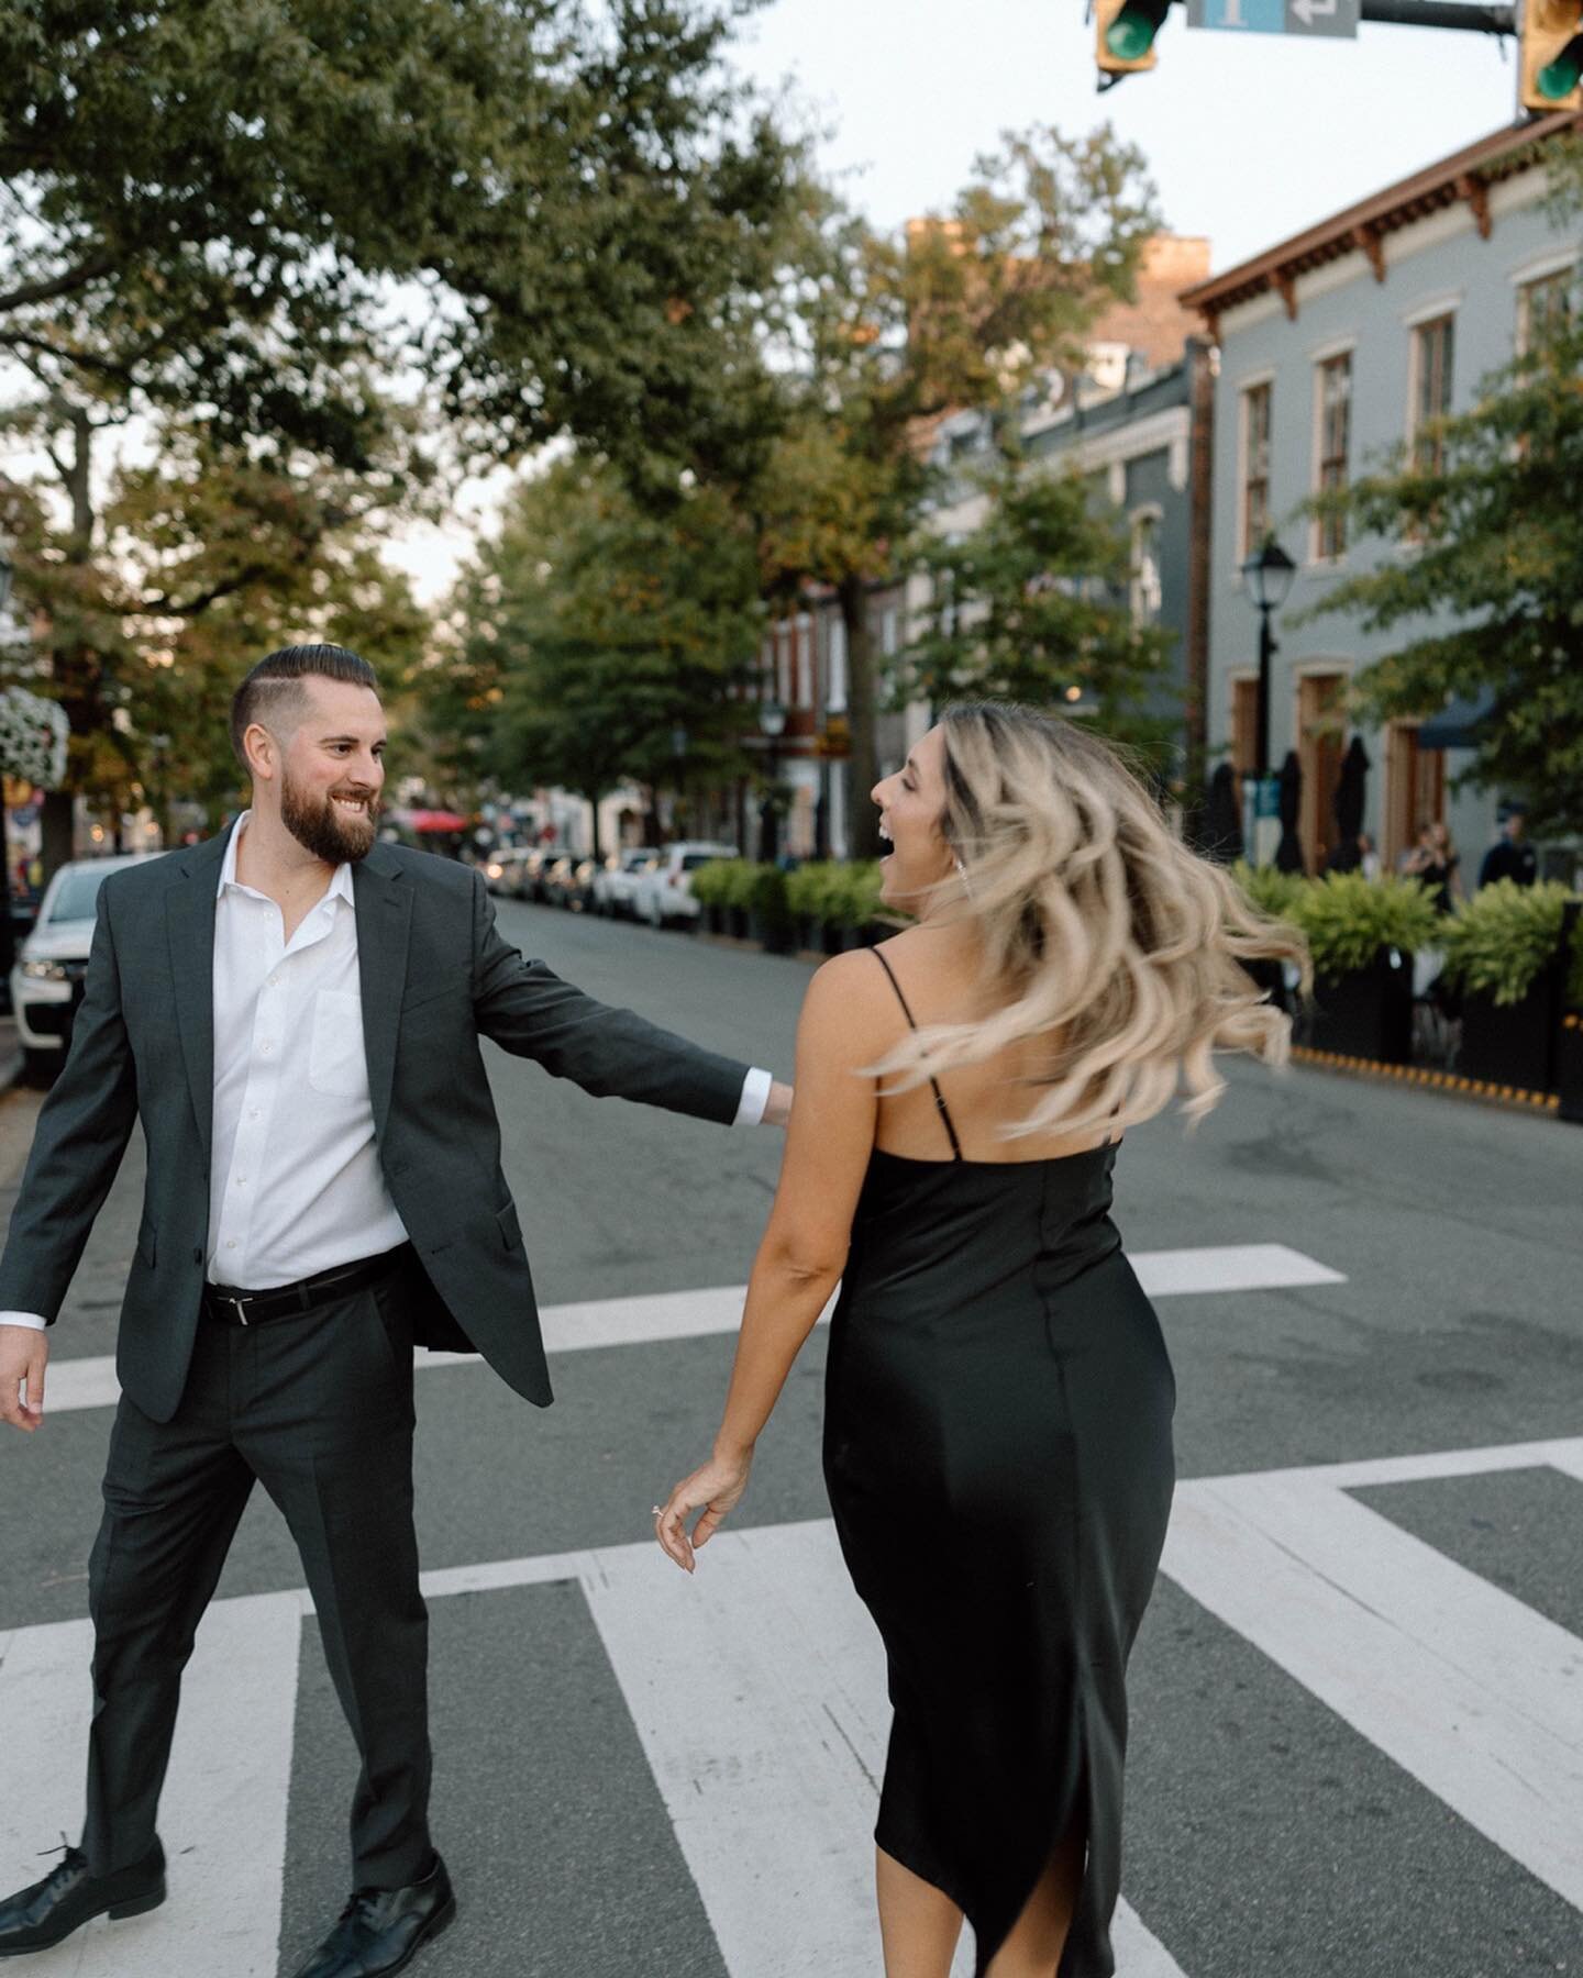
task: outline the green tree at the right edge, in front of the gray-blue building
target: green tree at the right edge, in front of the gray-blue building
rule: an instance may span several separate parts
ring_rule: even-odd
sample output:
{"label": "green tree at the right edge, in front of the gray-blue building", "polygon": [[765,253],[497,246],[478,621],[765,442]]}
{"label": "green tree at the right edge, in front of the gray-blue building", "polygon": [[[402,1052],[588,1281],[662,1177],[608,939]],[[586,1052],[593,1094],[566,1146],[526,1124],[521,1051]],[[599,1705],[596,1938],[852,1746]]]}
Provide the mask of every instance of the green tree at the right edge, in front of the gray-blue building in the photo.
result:
{"label": "green tree at the right edge, in front of the gray-blue building", "polygon": [[1377,720],[1492,696],[1466,779],[1524,797],[1536,833],[1583,833],[1583,309],[1553,301],[1468,411],[1328,504],[1387,550],[1310,615],[1401,635],[1353,676]]}

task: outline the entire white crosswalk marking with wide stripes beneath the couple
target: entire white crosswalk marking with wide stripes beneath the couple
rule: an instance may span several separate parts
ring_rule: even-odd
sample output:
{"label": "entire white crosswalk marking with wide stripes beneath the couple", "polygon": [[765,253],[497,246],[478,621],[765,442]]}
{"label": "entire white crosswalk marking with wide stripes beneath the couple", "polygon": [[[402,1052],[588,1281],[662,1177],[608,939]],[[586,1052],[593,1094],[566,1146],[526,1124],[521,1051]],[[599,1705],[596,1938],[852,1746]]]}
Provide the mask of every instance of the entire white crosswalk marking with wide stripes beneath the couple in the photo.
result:
{"label": "entire white crosswalk marking with wide stripes beneath the couple", "polygon": [[[1583,1438],[1191,1480],[1164,1571],[1583,1909],[1583,1644],[1346,1495],[1534,1464],[1583,1478]],[[643,1539],[447,1567],[425,1573],[423,1590],[439,1600],[548,1580],[584,1588],[732,1978],[867,1978],[888,1707],[829,1523],[722,1533],[693,1580]],[[228,1915],[245,1927],[228,1970],[273,1972],[309,1612],[301,1590],[210,1610],[166,1800],[182,1899],[117,1925],[113,1964],[95,1925],[42,1958],[42,1978],[210,1978]],[[85,1662],[85,1622],[0,1638],[0,1723],[12,1727],[0,1883],[32,1879],[40,1838],[75,1830]],[[1116,1950],[1120,1978],[1181,1978],[1128,1909]]]}

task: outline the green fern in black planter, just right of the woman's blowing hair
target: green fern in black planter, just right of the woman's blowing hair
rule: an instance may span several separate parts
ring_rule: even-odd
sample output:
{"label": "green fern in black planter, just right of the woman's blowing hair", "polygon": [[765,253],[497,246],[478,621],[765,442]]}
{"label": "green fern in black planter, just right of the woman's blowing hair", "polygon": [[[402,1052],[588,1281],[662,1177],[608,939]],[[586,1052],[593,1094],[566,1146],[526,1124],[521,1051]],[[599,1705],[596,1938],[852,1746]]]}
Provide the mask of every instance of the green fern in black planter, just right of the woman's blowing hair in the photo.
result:
{"label": "green fern in black planter, just right of the woman's blowing hair", "polygon": [[1308,1044],[1344,1058],[1407,1064],[1413,1056],[1413,951],[1435,945],[1435,902],[1415,878],[1328,872],[1292,900],[1308,938],[1314,1003]]}

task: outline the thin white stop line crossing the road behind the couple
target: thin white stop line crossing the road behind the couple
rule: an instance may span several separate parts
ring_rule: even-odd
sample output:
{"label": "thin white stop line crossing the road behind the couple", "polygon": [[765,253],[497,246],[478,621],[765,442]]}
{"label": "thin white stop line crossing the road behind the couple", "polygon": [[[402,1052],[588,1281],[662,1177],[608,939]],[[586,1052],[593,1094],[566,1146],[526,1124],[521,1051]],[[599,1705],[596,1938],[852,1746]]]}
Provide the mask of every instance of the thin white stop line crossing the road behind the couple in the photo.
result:
{"label": "thin white stop line crossing the road behind the couple", "polygon": [[[1278,1292],[1306,1284],[1346,1284],[1338,1270],[1314,1262],[1280,1242],[1205,1246],[1201,1250],[1138,1250],[1132,1268],[1150,1298],[1179,1298],[1209,1292]],[[657,1345],[665,1339],[702,1339],[734,1333],[742,1321],[746,1286],[728,1284],[704,1292],[655,1292],[645,1298],[594,1298],[574,1305],[546,1305],[540,1311],[544,1345],[550,1353],[578,1353],[592,1347]],[[825,1307],[829,1319],[835,1300]],[[821,1319],[821,1323],[823,1323]],[[477,1353],[423,1353],[414,1359],[419,1373],[435,1367],[477,1367]],[[46,1408],[61,1414],[75,1408],[113,1408],[121,1396],[113,1355],[53,1359],[46,1383]]]}

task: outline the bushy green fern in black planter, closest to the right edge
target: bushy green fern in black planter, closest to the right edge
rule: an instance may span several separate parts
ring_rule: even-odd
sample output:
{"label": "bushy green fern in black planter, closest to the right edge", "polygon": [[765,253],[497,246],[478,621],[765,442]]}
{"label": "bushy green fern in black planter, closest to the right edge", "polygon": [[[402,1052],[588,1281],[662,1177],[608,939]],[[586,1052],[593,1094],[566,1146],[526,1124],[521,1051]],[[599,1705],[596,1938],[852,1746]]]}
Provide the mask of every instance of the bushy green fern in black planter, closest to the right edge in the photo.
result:
{"label": "bushy green fern in black planter, closest to the right edge", "polygon": [[1441,932],[1444,973],[1462,991],[1456,1070],[1522,1092],[1555,1092],[1567,987],[1565,886],[1480,886]]}

